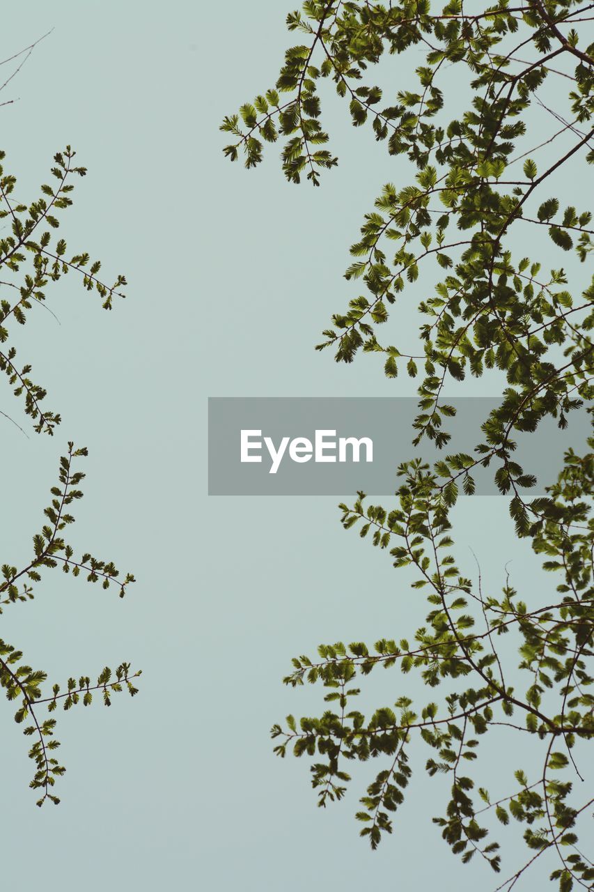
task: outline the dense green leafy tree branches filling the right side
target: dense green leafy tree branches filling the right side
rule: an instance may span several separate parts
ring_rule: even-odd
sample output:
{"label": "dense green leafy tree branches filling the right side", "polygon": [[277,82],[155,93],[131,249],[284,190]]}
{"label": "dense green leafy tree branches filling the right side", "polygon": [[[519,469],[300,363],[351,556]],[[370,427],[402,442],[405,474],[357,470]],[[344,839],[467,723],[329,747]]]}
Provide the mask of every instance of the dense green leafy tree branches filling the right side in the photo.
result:
{"label": "dense green leafy tree branches filling the right side", "polygon": [[[388,637],[373,647],[338,642],[321,645],[316,659],[294,658],[285,683],[320,682],[328,706],[300,722],[287,716],[272,736],[279,756],[292,750],[313,761],[318,805],[342,798],[351,780],[348,764],[370,757],[381,763],[357,814],[361,836],[373,848],[392,831],[391,815],[411,780],[410,749],[422,739],[430,749],[426,771],[450,779],[449,801],[433,822],[454,854],[464,863],[483,858],[499,871],[493,822],[507,824],[511,815],[524,831],[530,851],[499,886],[506,889],[544,853],[557,855],[550,878],[561,892],[593,888],[594,880],[578,839],[594,800],[591,789],[589,798],[575,783],[594,734],[587,665],[594,630],[594,454],[567,450],[557,483],[546,497],[532,499],[526,491],[536,479],[513,455],[515,432],[538,432],[549,416],[563,428],[574,409],[591,412],[591,272],[581,285],[576,263],[570,287],[560,265],[546,272],[537,256],[517,251],[519,236],[531,232],[551,257],[565,252],[582,268],[590,260],[590,210],[562,207],[555,189],[568,165],[582,164],[579,177],[586,178],[594,162],[591,9],[576,0],[502,0],[473,4],[472,13],[461,0],[442,9],[429,0],[308,0],[303,12],[287,16],[303,43],[287,50],[276,87],[221,126],[234,139],[225,148],[231,161],[243,156],[254,168],[265,143],[283,140],[285,177],[318,186],[337,163],[327,148],[318,90],[322,80],[333,82],[349,103],[353,126],[370,124],[375,140],[402,156],[398,170],[405,162],[414,178],[384,186],[366,214],[345,273],[348,281],[362,280],[366,293],[333,316],[317,349],[332,347],[341,362],[360,351],[380,354],[391,378],[406,367],[419,378],[413,442],[426,436],[439,448],[450,439],[444,424],[453,414],[441,401],[444,384],[462,382],[468,373],[505,382],[499,408],[484,420],[482,442],[433,467],[418,459],[401,465],[392,508],[367,505],[363,492],[352,507],[340,506],[345,528],[358,526],[379,549],[391,549],[394,566],[415,571],[413,589],[425,590],[430,612],[412,643]],[[420,65],[418,48],[425,53]],[[400,82],[406,77],[410,84],[416,66],[417,89],[392,88],[384,98],[369,73],[384,55],[390,60],[387,73],[378,69],[383,82],[393,84],[400,65]],[[451,66],[458,66],[455,82]],[[467,105],[458,111],[461,102]],[[551,124],[539,145],[533,137],[531,143],[526,123],[534,108],[546,111]],[[418,305],[419,349],[380,343],[379,326],[419,276],[425,294]],[[541,600],[536,609],[528,609],[509,579],[495,597],[483,591],[480,574],[473,580],[458,568],[450,513],[460,485],[474,492],[479,465],[495,468],[517,536],[543,556],[546,571],[561,577],[549,603]],[[519,665],[508,648],[504,653],[504,635],[515,636]],[[441,684],[446,693],[418,705],[399,697],[363,714],[355,705],[357,680],[380,665],[419,673],[434,698]],[[508,748],[514,733],[528,737],[533,758],[529,772],[518,767],[509,789],[491,795],[477,785],[477,756],[483,736],[498,733],[507,735]]]}

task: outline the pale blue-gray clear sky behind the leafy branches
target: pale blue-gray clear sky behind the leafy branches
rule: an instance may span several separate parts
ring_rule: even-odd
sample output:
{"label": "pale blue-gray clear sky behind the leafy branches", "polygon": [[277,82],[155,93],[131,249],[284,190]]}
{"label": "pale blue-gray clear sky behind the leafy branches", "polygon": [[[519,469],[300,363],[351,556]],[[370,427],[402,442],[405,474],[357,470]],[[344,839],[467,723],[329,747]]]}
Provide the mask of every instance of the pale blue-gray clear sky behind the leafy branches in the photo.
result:
{"label": "pale blue-gray clear sky behind the leafy branches", "polygon": [[[26,440],[0,419],[11,518],[4,510],[1,558],[29,553],[72,438],[90,450],[72,540],[138,582],[120,601],[48,575],[34,603],[0,617],[0,634],[52,681],[121,659],[144,670],[134,701],[62,716],[57,808],[36,809],[26,741],[0,704],[7,887],[359,892],[446,877],[460,892],[491,888],[480,865],[461,869],[426,815],[430,793],[441,787],[430,814],[447,793],[426,780],[424,751],[398,832],[376,854],[352,817],[375,766],[322,812],[307,764],[271,753],[273,722],[321,708],[321,692],[282,686],[294,654],[398,636],[425,605],[387,556],[342,532],[333,498],[206,497],[208,396],[395,395],[375,361],[338,366],[312,345],[351,296],[341,275],[363,213],[403,168],[337,105],[329,124],[342,166],[319,190],[287,185],[275,157],[248,174],[220,154],[223,114],[276,77],[291,39],[284,16],[277,0],[203,10],[33,0],[3,15],[3,58],[54,27],[4,91],[19,97],[0,110],[6,169],[32,198],[53,153],[77,149],[89,173],[63,235],[124,272],[129,296],[105,313],[70,276],[47,289],[60,324],[38,309],[19,333],[64,420],[53,439]],[[497,384],[466,392],[492,395]],[[4,385],[0,409],[18,417]],[[510,561],[517,587],[532,588],[537,563],[503,502],[464,500],[457,517],[467,573],[472,548],[493,591]],[[401,676],[386,673],[375,690],[372,702],[393,702]],[[491,747],[483,781],[499,770]]]}

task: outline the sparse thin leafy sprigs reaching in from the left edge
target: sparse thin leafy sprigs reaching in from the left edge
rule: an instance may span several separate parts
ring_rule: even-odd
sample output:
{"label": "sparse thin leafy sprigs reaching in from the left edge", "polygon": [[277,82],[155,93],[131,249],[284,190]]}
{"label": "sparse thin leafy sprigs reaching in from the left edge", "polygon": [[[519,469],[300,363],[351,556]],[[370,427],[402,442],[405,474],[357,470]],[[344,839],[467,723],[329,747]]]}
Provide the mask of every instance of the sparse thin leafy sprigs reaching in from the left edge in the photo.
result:
{"label": "sparse thin leafy sprigs reaching in from the left edge", "polygon": [[[0,152],[0,162],[4,162],[4,155]],[[10,224],[10,235],[0,238],[0,371],[7,377],[13,393],[24,401],[25,413],[34,422],[38,434],[54,434],[61,417],[45,409],[45,389],[29,377],[30,365],[17,363],[16,350],[11,344],[13,326],[25,325],[33,305],[45,305],[46,286],[58,282],[70,271],[80,274],[87,291],[99,294],[106,310],[111,310],[114,299],[124,297],[120,288],[126,285],[123,276],[116,277],[112,285],[105,285],[97,275],[101,267],[98,260],[91,262],[87,252],[70,255],[64,239],[54,239],[52,230],[60,225],[55,215],[72,203],[71,181],[87,173],[85,168],[73,165],[74,156],[70,145],[54,155],[51,172],[57,182],[53,186],[41,186],[41,197],[29,205],[12,198],[16,179],[0,163],[0,219]],[[0,613],[6,607],[33,599],[34,586],[41,582],[42,574],[58,566],[65,574],[83,574],[88,582],[101,582],[103,589],[115,588],[120,598],[124,597],[128,585],[135,582],[130,573],[121,577],[112,561],[100,560],[88,553],[77,557],[73,546],[64,538],[66,527],[74,523],[70,506],[83,495],[79,484],[85,475],[78,470],[78,463],[86,455],[86,448],[75,448],[73,442],[68,443],[67,454],[60,459],[58,483],[52,487],[52,499],[44,510],[45,520],[33,536],[29,561],[21,567],[4,563],[1,568]],[[80,703],[89,706],[94,694],[103,699],[105,706],[110,706],[114,693],[126,689],[132,696],[136,694],[134,681],[138,675],[140,672],[132,672],[129,663],[122,663],[113,672],[105,666],[96,681],[81,675],[78,680],[69,678],[63,687],[55,683],[48,688],[47,673],[31,668],[21,650],[0,638],[0,684],[6,698],[18,705],[15,721],[27,723],[23,733],[33,739],[29,758],[35,764],[35,772],[30,786],[40,792],[37,805],[43,805],[47,799],[55,804],[60,802],[53,792],[54,783],[65,771],[55,758],[55,750],[60,746],[54,738],[56,720],[53,715],[42,716],[42,711],[52,714],[58,707],[70,709]]]}

